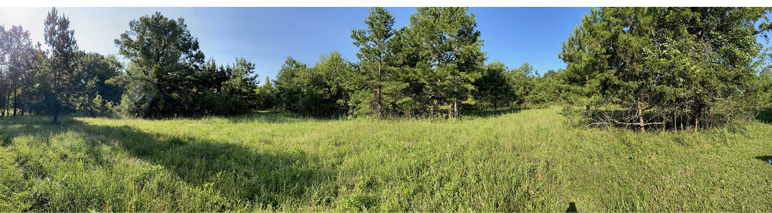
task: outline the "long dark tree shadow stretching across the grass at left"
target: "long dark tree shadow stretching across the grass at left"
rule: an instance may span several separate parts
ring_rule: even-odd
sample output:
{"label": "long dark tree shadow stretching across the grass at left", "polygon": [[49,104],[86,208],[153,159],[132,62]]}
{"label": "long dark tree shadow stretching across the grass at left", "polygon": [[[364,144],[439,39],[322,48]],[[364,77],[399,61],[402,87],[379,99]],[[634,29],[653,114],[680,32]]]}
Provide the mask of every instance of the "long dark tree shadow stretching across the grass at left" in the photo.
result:
{"label": "long dark tree shadow stretching across the grass at left", "polygon": [[[97,148],[100,144],[119,147],[141,161],[171,171],[188,185],[219,191],[231,201],[249,201],[256,205],[277,207],[291,200],[313,200],[317,205],[326,205],[337,191],[334,184],[335,171],[317,168],[315,163],[320,159],[300,149],[258,150],[242,144],[186,134],[149,133],[130,126],[99,126],[65,117],[60,118],[60,123],[54,124],[45,118],[0,119],[0,132],[8,133],[2,134],[4,146],[11,144],[13,138],[20,135],[52,137],[74,132],[84,137],[86,146],[90,146],[89,150],[99,152],[102,150]],[[88,162],[110,167],[104,165],[116,164],[111,158],[105,159],[105,156],[110,155],[92,154],[95,159]],[[96,165],[92,168],[98,169]],[[141,191],[144,183],[136,185],[137,191]],[[313,193],[307,193],[309,191]],[[314,197],[310,198],[312,195],[309,194]]]}

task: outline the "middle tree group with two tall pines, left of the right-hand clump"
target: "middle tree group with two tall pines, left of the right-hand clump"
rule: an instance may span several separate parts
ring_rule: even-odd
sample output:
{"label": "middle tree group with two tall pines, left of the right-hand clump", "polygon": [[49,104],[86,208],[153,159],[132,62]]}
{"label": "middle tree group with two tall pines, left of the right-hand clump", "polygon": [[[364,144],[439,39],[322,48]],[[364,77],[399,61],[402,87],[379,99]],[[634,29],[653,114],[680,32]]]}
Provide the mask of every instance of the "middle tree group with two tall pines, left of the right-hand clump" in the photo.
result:
{"label": "middle tree group with two tall pines, left of the right-hand clump", "polygon": [[337,51],[312,65],[291,57],[261,86],[260,109],[312,116],[458,118],[463,110],[550,103],[555,79],[524,63],[509,69],[482,52],[475,14],[468,8],[418,8],[407,26],[394,26],[384,8],[371,8],[367,29],[352,29],[358,63]]}

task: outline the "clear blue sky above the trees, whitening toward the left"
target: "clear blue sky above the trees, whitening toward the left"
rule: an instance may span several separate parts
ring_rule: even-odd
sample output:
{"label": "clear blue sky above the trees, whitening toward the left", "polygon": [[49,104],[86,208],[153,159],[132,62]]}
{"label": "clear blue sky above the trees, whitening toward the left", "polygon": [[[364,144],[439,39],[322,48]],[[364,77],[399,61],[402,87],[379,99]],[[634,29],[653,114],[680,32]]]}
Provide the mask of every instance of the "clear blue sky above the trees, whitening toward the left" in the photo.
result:
{"label": "clear blue sky above the trees, whitening toward the left", "polygon": [[[322,53],[337,49],[358,61],[351,29],[364,29],[368,8],[56,8],[70,19],[78,46],[86,52],[117,54],[113,39],[128,23],[161,12],[182,17],[198,38],[207,59],[219,64],[244,57],[256,64],[262,82],[275,79],[287,56],[313,64]],[[396,26],[408,25],[415,8],[387,8]],[[22,25],[33,42],[43,42],[43,20],[51,8],[0,8],[0,25]],[[590,8],[469,8],[476,14],[482,51],[488,61],[500,60],[510,69],[530,63],[539,73],[565,67],[557,58],[562,41]],[[120,56],[119,56],[120,57]]]}

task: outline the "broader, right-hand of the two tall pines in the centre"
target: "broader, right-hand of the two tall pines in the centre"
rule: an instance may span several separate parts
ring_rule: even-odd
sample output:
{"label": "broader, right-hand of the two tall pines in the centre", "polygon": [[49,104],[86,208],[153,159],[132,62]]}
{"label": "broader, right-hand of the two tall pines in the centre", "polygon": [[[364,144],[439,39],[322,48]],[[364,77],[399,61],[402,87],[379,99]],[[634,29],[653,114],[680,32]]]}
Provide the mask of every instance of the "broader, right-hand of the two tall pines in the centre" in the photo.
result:
{"label": "broader, right-hand of the two tall pines in the centre", "polygon": [[413,40],[421,44],[417,69],[427,73],[422,76],[428,77],[429,104],[458,118],[460,103],[473,104],[472,82],[486,60],[475,14],[468,8],[418,8],[410,19]]}

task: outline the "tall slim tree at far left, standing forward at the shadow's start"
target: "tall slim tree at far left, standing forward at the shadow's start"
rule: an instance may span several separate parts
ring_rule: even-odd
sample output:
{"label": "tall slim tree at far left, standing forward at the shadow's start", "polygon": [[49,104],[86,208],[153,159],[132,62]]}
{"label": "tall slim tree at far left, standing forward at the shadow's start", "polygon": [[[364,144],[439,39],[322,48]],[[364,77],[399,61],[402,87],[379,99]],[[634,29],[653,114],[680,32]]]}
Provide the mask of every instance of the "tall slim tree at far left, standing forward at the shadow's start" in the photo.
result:
{"label": "tall slim tree at far left, standing forward at the shadow's start", "polygon": [[52,8],[46,18],[46,29],[43,38],[46,44],[51,47],[49,52],[49,72],[50,81],[54,93],[53,99],[53,122],[59,119],[61,110],[61,100],[69,98],[73,93],[71,91],[76,82],[73,69],[75,52],[78,51],[78,45],[75,40],[75,30],[69,29],[69,19],[64,15],[57,16],[56,8]]}

